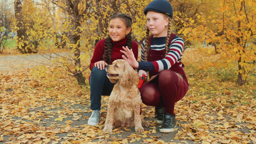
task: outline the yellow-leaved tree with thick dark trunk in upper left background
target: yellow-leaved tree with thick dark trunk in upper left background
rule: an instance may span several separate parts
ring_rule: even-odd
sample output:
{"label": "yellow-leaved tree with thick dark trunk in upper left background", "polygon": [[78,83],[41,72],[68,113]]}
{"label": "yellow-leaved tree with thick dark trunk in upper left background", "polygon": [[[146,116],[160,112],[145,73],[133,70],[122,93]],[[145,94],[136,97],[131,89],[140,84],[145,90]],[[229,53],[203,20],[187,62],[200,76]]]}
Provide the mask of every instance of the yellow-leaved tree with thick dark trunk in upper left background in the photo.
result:
{"label": "yellow-leaved tree with thick dark trunk in upper left background", "polygon": [[[17,31],[16,43],[21,53],[37,53],[39,47],[49,42],[51,19],[47,12],[41,11],[32,0],[15,0],[14,29]],[[47,35],[45,35],[48,33]]]}

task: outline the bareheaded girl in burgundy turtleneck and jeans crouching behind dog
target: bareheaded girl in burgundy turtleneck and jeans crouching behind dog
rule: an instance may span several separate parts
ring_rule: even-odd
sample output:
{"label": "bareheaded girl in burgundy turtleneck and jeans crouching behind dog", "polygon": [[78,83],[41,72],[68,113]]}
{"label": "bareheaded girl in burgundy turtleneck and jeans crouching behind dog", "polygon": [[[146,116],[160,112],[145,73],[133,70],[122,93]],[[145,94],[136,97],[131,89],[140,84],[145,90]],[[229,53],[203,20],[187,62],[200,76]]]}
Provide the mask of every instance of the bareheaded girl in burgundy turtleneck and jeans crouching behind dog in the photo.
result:
{"label": "bareheaded girl in burgundy turtleneck and jeans crouching behind dog", "polygon": [[109,37],[98,42],[90,63],[90,99],[92,114],[88,125],[98,125],[100,118],[101,96],[110,96],[114,84],[110,82],[105,66],[114,60],[122,59],[122,47],[132,48],[138,58],[138,44],[132,40],[132,18],[125,13],[114,13],[110,17]]}

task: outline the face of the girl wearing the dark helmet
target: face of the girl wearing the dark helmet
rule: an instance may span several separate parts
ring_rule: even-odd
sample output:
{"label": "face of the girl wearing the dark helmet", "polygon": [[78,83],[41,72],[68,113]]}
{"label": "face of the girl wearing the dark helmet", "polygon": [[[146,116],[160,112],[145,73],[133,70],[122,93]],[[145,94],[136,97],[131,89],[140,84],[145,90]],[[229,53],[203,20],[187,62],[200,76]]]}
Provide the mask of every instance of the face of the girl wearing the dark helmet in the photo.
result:
{"label": "face of the girl wearing the dark helmet", "polygon": [[146,12],[146,26],[154,37],[167,36],[166,26],[169,24],[167,15],[159,12]]}

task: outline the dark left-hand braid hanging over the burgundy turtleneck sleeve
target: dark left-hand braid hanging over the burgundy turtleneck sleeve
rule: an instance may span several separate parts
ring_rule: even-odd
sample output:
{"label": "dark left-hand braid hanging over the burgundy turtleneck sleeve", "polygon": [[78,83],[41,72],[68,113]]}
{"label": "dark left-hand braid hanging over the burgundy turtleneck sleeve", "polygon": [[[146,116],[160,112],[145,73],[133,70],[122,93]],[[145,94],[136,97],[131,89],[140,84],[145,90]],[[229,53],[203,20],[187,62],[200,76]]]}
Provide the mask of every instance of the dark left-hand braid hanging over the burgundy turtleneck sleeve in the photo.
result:
{"label": "dark left-hand braid hanging over the burgundy turtleneck sleeve", "polygon": [[110,36],[106,38],[106,41],[104,44],[105,44],[105,47],[104,47],[103,60],[108,64],[111,64],[111,53],[113,49],[113,43]]}

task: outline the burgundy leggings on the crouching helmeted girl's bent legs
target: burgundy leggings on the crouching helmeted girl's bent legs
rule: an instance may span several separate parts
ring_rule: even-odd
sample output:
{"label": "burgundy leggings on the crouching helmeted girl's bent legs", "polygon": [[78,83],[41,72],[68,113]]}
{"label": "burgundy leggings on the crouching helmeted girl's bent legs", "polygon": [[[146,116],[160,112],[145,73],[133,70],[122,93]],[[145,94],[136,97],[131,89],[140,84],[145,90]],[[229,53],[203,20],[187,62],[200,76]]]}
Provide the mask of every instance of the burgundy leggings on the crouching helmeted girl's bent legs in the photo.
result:
{"label": "burgundy leggings on the crouching helmeted girl's bent legs", "polygon": [[175,102],[188,91],[187,81],[180,79],[171,70],[163,70],[141,88],[142,102],[148,106],[164,107],[165,113],[174,116]]}

